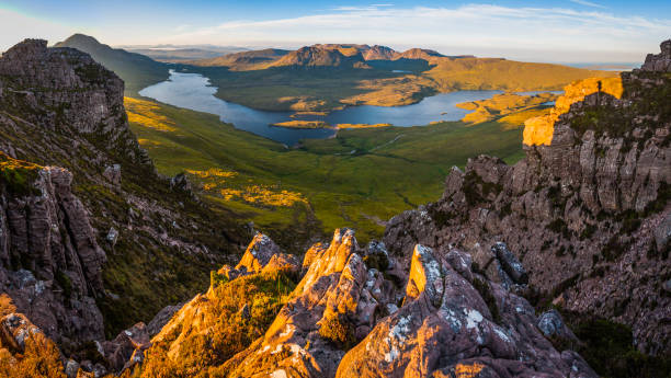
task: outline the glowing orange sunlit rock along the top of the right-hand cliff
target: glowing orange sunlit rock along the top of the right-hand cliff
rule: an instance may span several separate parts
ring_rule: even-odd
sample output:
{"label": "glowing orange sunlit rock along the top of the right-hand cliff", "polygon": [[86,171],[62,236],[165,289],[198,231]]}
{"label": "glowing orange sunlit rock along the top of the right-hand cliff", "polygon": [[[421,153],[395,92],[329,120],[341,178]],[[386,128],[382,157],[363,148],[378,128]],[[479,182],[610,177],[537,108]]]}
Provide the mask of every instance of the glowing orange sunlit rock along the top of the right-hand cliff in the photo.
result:
{"label": "glowing orange sunlit rock along the top of the right-hand cliff", "polygon": [[582,101],[587,95],[599,91],[616,99],[622,98],[621,78],[590,78],[571,83],[564,88],[564,95],[557,99],[555,107],[548,115],[533,117],[524,122],[524,144],[527,146],[549,146],[553,141],[555,122],[571,108],[571,104]]}

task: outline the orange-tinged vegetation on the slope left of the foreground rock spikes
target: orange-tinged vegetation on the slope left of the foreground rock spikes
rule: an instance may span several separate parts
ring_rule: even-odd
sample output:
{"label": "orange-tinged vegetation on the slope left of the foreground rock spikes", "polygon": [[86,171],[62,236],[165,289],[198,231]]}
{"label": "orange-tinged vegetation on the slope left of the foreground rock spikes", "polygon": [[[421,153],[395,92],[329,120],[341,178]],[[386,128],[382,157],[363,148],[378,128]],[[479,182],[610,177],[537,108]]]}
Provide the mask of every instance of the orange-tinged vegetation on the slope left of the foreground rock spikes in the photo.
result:
{"label": "orange-tinged vegetation on the slope left of the foreground rock spikes", "polygon": [[[141,370],[133,376],[225,376],[217,367],[265,333],[295,286],[292,277],[277,273],[243,276],[213,287],[200,312],[186,313],[174,332],[161,334],[147,351]],[[247,313],[241,311],[244,306]],[[170,352],[173,343],[177,353]]]}

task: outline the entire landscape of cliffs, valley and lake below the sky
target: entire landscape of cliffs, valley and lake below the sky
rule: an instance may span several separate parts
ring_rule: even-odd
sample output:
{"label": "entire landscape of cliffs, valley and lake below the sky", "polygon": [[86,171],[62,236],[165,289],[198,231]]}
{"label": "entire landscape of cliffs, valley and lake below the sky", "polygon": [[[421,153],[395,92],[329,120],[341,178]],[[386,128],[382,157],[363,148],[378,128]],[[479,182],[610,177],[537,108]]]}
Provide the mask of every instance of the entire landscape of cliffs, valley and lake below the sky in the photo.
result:
{"label": "entire landscape of cliffs, valley and lake below the sky", "polygon": [[671,39],[174,46],[0,56],[1,378],[671,373]]}

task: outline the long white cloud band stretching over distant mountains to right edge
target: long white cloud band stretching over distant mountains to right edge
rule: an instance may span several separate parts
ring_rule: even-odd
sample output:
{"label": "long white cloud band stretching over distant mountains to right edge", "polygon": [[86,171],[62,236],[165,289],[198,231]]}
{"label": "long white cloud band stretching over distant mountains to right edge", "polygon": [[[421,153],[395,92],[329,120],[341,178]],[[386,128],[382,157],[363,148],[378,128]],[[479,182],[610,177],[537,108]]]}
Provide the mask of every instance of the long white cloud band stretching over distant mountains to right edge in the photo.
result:
{"label": "long white cloud band stretching over distant mountains to right edge", "polygon": [[[583,0],[577,0],[583,1]],[[299,46],[314,43],[386,44],[428,47],[444,54],[499,55],[537,60],[572,60],[604,53],[657,49],[671,20],[617,16],[568,8],[340,7],[320,14],[268,21],[234,21],[171,36],[175,43]],[[573,54],[572,57],[564,54]],[[622,54],[621,58],[624,59]],[[610,57],[609,57],[610,58]],[[628,59],[628,58],[627,58]]]}

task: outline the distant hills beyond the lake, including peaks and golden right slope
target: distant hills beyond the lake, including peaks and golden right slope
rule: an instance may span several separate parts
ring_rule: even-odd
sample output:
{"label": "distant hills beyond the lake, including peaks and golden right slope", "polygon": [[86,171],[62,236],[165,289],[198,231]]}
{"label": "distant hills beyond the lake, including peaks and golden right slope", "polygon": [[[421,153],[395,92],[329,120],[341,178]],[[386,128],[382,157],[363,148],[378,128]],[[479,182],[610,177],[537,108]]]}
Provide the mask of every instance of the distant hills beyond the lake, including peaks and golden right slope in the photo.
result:
{"label": "distant hills beyond the lake, including peaks and golden right slope", "polygon": [[397,53],[367,45],[306,46],[254,65],[220,59],[218,64],[215,59],[195,61],[187,69],[209,78],[218,98],[270,111],[408,105],[459,90],[556,91],[576,80],[616,76],[560,65],[446,57],[420,48]]}

